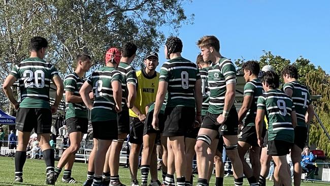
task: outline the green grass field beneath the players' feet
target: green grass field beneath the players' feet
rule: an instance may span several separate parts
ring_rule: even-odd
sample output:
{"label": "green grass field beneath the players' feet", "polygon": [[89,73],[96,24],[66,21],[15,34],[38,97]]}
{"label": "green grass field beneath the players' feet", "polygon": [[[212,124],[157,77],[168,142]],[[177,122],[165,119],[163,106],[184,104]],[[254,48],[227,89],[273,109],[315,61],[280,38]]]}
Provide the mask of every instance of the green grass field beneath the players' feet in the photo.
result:
{"label": "green grass field beneath the players' feet", "polygon": [[[55,162],[55,165],[57,162]],[[16,183],[14,182],[14,158],[6,158],[6,157],[0,157],[0,185],[45,185],[45,163],[43,160],[30,160],[27,159],[24,169],[23,169],[23,183]],[[61,182],[61,176],[59,180],[56,182],[55,185],[82,185],[82,183],[86,179],[87,174],[87,164],[84,163],[75,163],[72,171],[72,177],[74,177],[79,183],[71,184],[71,183],[63,183]],[[127,168],[120,168],[119,169],[119,175],[120,180],[123,184],[129,185],[130,183],[130,174],[129,169]],[[141,182],[141,172],[138,170],[138,179]],[[195,175],[196,176],[196,175]],[[158,177],[161,178],[161,172],[158,171]],[[149,175],[150,179],[150,175]],[[194,178],[194,181],[196,181],[197,178]],[[210,186],[214,185],[215,177],[212,176],[210,181]],[[196,184],[196,183],[195,183]],[[195,185],[194,184],[194,185]],[[234,184],[234,178],[233,177],[225,177],[224,179],[224,185],[233,185]],[[312,185],[330,185],[328,183],[311,183],[311,182],[302,182],[301,185],[303,186],[312,186]],[[244,179],[244,185],[248,185],[248,182],[246,179]],[[268,181],[267,185],[273,185],[273,182]]]}

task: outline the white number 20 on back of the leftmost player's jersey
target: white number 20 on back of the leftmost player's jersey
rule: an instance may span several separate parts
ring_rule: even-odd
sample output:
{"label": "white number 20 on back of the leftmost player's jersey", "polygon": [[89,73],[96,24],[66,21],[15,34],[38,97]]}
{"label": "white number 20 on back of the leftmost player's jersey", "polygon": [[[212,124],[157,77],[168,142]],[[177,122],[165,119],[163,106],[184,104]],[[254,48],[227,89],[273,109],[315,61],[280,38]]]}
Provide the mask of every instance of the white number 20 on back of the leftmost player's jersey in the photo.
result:
{"label": "white number 20 on back of the leftmost player's jersey", "polygon": [[36,70],[35,73],[31,70],[23,72],[24,87],[43,88],[45,86],[45,73],[42,70]]}

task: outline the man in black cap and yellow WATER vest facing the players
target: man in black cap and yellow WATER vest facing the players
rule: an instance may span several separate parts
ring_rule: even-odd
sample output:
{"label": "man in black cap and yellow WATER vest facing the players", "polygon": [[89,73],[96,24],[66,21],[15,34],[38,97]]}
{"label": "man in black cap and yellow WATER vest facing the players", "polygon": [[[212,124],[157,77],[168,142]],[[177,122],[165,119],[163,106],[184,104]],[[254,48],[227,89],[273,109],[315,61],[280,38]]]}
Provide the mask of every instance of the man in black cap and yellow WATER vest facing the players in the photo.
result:
{"label": "man in black cap and yellow WATER vest facing the players", "polygon": [[158,65],[158,54],[148,52],[144,59],[145,68],[137,71],[137,98],[132,109],[129,109],[130,132],[129,142],[131,149],[129,153],[129,167],[131,175],[130,186],[138,186],[137,180],[139,153],[143,142],[144,120],[146,118],[146,106],[156,99],[159,73],[156,72]]}

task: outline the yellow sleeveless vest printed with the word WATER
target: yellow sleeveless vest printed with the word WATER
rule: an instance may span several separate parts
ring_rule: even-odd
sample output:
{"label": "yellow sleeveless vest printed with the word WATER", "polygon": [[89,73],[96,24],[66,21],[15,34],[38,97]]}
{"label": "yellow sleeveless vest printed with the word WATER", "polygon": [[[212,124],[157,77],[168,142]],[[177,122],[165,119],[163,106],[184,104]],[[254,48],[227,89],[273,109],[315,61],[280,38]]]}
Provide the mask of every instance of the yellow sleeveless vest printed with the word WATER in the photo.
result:
{"label": "yellow sleeveless vest printed with the word WATER", "polygon": [[[156,100],[159,73],[156,72],[152,77],[148,77],[145,68],[143,70],[137,71],[136,73],[138,87],[137,98],[134,105],[139,108],[141,113],[146,114],[146,106]],[[129,109],[129,116],[138,117],[138,115],[135,114],[131,109]]]}

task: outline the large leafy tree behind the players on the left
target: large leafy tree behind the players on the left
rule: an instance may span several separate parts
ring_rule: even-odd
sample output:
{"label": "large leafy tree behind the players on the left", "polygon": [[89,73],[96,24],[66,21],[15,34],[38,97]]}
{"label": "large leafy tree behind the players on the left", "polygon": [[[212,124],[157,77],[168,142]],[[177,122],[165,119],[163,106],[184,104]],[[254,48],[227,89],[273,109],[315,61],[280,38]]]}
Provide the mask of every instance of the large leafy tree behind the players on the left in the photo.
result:
{"label": "large leafy tree behind the players on the left", "polygon": [[[0,1],[0,80],[13,65],[28,56],[29,39],[43,36],[49,42],[46,60],[63,76],[72,72],[75,56],[91,55],[98,68],[109,47],[132,41],[138,46],[133,63],[143,66],[148,50],[164,42],[161,26],[175,34],[183,23],[192,23],[183,4],[190,0],[4,0]],[[3,102],[2,102],[3,103]]]}

